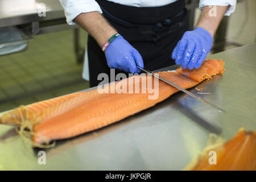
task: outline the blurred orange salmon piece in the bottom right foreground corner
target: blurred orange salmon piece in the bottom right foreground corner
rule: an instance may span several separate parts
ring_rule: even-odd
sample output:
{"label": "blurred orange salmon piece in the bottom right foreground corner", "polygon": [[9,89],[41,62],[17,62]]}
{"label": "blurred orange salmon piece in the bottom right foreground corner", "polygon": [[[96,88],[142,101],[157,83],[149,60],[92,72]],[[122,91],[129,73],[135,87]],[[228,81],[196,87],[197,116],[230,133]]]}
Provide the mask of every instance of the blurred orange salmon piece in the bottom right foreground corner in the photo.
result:
{"label": "blurred orange salmon piece in the bottom right foreground corner", "polygon": [[[209,164],[210,151],[216,152],[216,161]],[[208,146],[185,170],[195,171],[256,171],[256,133],[241,128],[228,142]]]}

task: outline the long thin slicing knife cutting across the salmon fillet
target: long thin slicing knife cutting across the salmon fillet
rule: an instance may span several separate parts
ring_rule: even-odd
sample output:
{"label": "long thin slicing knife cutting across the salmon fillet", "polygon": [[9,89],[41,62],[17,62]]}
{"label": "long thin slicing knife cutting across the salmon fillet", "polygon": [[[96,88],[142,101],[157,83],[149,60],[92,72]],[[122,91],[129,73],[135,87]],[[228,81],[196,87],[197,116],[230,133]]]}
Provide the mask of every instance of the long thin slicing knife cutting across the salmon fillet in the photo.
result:
{"label": "long thin slicing knife cutting across the salmon fillet", "polygon": [[225,110],[220,109],[220,107],[217,107],[216,105],[213,105],[212,103],[210,103],[210,102],[208,102],[208,101],[205,101],[203,98],[201,98],[201,97],[199,97],[199,96],[196,96],[196,94],[193,94],[192,92],[189,92],[188,90],[181,88],[179,85],[176,85],[176,84],[174,84],[173,82],[168,81],[168,80],[166,80],[166,79],[163,78],[163,77],[160,77],[160,76],[158,76],[158,75],[155,75],[154,73],[152,73],[151,71],[148,71],[147,69],[144,69],[144,68],[141,68],[141,67],[138,67],[138,66],[137,66],[137,68],[141,69],[141,70],[144,71],[144,72],[149,73],[150,75],[152,75],[152,76],[158,78],[159,80],[162,80],[162,81],[166,82],[167,84],[170,84],[170,85],[174,86],[175,88],[177,88],[177,89],[179,89],[180,91],[182,91],[182,92],[188,94],[189,96],[191,96],[191,97],[193,97],[193,98],[196,98],[197,100],[199,100],[199,101],[201,101],[201,102],[204,102],[205,104],[209,104],[210,106],[214,107],[214,108],[217,109],[218,111],[220,111],[220,112],[222,112],[222,113],[225,113]]}

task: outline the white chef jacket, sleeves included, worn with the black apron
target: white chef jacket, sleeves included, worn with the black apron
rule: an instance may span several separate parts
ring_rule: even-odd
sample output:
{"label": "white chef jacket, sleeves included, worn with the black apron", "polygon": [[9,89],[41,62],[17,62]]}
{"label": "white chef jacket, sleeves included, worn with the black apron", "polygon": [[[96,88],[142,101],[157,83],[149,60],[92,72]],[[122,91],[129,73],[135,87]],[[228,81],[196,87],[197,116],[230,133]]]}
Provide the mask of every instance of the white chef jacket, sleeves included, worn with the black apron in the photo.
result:
{"label": "white chef jacket, sleeves included, worn with the black apron", "polygon": [[[179,0],[107,0],[114,3],[119,3],[126,6],[134,7],[158,7],[168,5]],[[75,24],[73,19],[81,13],[88,13],[92,11],[98,11],[102,13],[102,10],[95,0],[60,0],[61,5],[64,7],[65,16],[68,24]],[[199,8],[202,9],[204,6],[229,6],[225,15],[229,16],[236,9],[237,0],[200,0]],[[87,49],[87,47],[86,47]],[[84,71],[82,77],[85,80],[89,80],[89,64],[88,64],[88,53],[85,50],[85,61]]]}

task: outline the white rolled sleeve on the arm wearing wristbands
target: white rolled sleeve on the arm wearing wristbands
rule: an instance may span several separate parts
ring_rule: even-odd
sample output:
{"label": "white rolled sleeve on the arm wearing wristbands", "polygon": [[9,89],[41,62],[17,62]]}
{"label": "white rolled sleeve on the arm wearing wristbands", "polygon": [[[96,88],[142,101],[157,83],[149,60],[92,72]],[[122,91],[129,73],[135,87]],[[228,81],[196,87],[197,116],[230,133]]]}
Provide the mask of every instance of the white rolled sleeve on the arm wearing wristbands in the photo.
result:
{"label": "white rolled sleeve on the arm wearing wristbands", "polygon": [[102,10],[95,0],[60,0],[61,5],[64,7],[65,16],[68,24],[75,24],[73,19],[81,13],[88,13]]}

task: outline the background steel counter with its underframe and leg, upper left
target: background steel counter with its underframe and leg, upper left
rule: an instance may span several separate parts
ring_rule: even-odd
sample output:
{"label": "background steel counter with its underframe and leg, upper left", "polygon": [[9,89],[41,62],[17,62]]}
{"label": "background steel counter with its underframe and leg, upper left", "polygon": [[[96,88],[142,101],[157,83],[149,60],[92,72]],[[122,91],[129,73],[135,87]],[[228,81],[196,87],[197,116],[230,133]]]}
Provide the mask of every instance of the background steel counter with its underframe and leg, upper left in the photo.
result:
{"label": "background steel counter with its underframe and leg, upper left", "polygon": [[[45,12],[45,14],[43,14]],[[59,0],[0,0],[0,28],[16,26],[23,40],[35,35],[74,29],[74,47],[77,61],[84,61],[84,48],[80,45],[79,27],[69,26]],[[19,42],[7,39],[3,44]]]}

